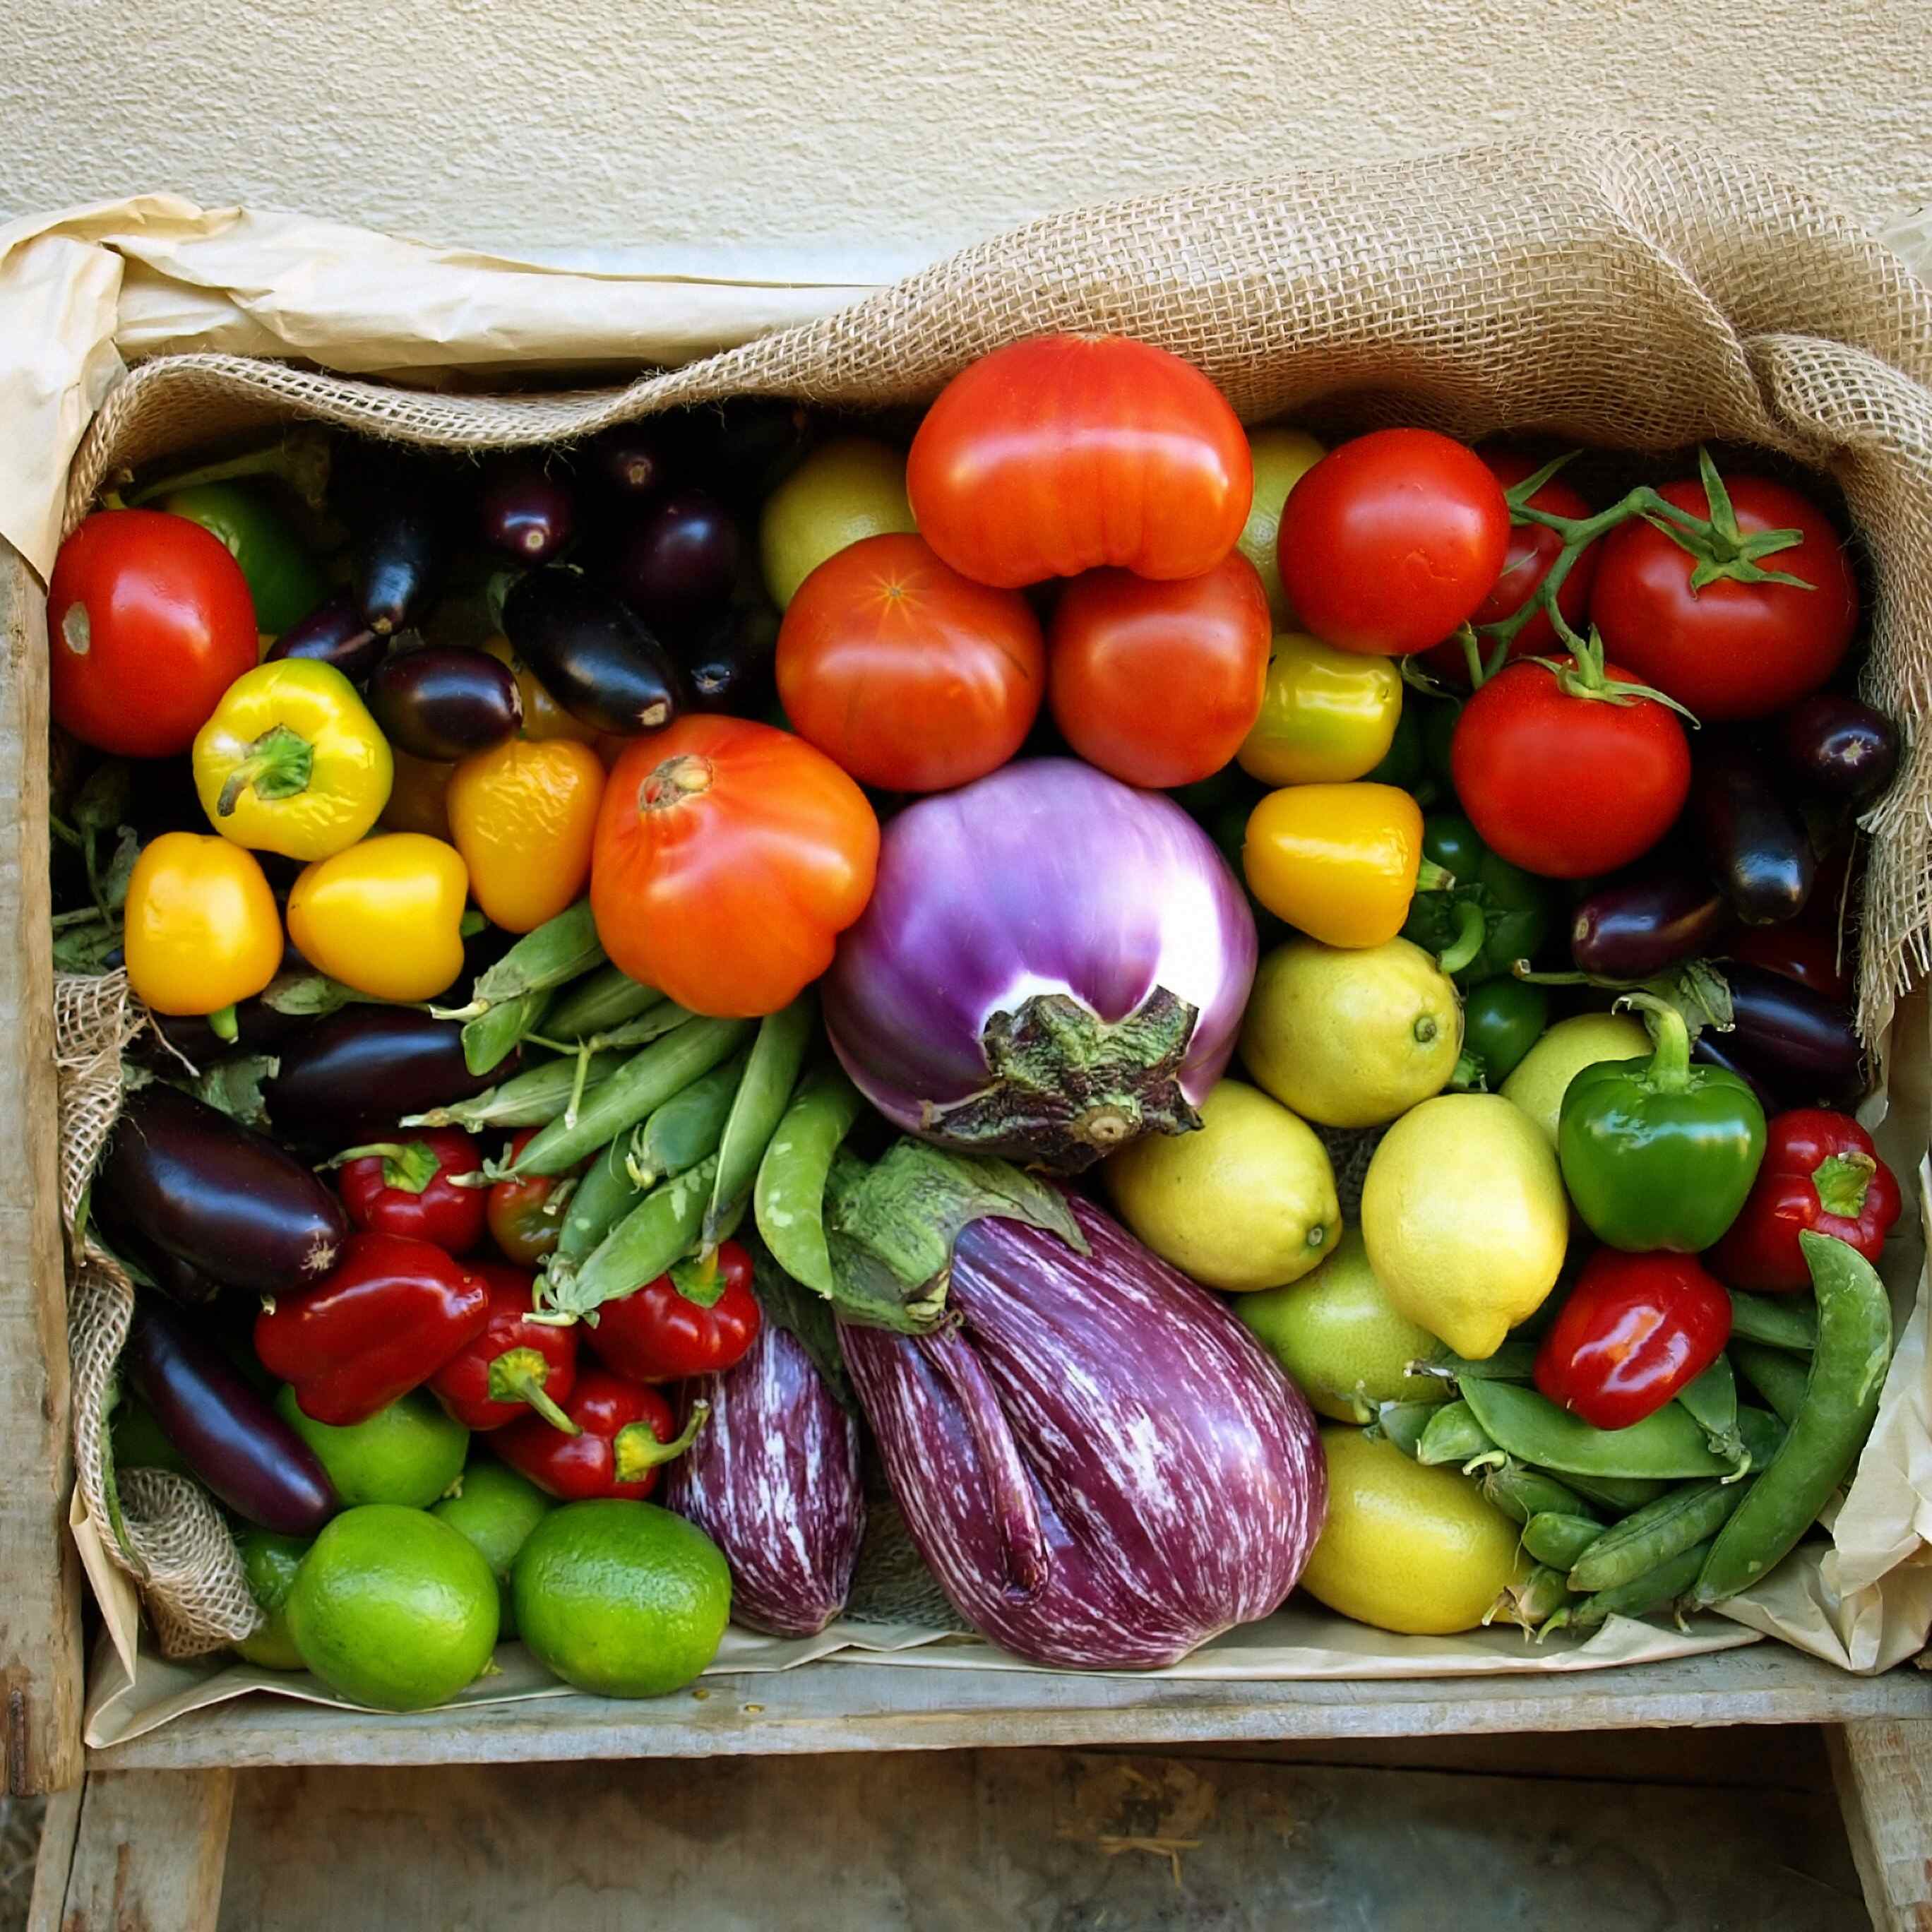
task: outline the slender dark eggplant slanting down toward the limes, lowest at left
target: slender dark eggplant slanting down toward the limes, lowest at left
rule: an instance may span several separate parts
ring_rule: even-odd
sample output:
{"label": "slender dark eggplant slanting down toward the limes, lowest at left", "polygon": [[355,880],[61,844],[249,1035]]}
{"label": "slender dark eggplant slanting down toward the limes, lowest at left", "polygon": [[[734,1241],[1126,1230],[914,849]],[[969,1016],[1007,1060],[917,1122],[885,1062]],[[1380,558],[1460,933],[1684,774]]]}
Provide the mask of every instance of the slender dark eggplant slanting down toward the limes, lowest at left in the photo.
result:
{"label": "slender dark eggplant slanting down toward the limes, lowest at left", "polygon": [[315,1451],[166,1308],[135,1300],[120,1366],[187,1466],[243,1520],[313,1536],[342,1507]]}

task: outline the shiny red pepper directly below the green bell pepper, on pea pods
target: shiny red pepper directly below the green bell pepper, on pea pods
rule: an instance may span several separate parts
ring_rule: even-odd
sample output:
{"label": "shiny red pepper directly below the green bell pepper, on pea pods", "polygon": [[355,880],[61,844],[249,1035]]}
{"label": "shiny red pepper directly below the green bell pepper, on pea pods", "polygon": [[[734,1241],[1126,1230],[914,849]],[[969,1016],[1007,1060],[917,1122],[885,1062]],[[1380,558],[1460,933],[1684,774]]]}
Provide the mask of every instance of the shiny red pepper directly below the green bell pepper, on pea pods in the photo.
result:
{"label": "shiny red pepper directly below the green bell pepper, on pea pods", "polygon": [[1731,1339],[1731,1296],[1689,1254],[1598,1248],[1536,1350],[1536,1387],[1596,1430],[1627,1430]]}

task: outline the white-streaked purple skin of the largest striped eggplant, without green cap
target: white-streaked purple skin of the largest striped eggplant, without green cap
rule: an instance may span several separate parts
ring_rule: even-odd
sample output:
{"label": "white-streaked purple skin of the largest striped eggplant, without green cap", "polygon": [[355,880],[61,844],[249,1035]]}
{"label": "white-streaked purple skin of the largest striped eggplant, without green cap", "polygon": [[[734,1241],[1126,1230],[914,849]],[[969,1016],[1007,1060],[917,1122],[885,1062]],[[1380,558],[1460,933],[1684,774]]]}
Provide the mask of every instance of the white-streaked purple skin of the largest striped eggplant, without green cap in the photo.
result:
{"label": "white-streaked purple skin of the largest striped eggplant, without green cap", "polygon": [[1070,1198],[1092,1256],[974,1221],[956,1327],[842,1327],[893,1495],[954,1607],[1034,1663],[1157,1669],[1277,1609],[1327,1515],[1298,1389],[1229,1310]]}

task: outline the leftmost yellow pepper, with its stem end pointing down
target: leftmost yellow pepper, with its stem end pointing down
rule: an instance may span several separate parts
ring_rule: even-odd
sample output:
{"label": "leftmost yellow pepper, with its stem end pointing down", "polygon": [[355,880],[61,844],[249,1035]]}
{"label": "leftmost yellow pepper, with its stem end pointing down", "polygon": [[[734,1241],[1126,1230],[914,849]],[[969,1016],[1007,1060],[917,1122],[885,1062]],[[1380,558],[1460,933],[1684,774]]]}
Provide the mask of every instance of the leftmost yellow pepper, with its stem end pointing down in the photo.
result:
{"label": "leftmost yellow pepper, with its stem end pointing down", "polygon": [[253,852],[162,833],[133,862],[122,931],[128,983],[156,1012],[220,1012],[282,964],[282,916]]}

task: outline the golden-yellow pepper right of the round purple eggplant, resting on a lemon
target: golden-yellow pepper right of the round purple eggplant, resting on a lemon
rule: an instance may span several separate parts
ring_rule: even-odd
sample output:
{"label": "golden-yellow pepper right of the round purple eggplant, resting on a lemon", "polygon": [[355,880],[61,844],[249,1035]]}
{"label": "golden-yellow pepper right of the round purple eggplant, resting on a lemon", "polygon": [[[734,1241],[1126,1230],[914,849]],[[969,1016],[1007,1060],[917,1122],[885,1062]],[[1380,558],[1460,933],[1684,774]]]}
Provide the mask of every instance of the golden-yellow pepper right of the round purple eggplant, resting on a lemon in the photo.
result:
{"label": "golden-yellow pepper right of the round purple eggplant, resting on a lemon", "polygon": [[1393,784],[1293,784],[1248,817],[1248,891],[1329,947],[1379,947],[1418,885],[1449,875],[1422,858],[1422,808]]}

